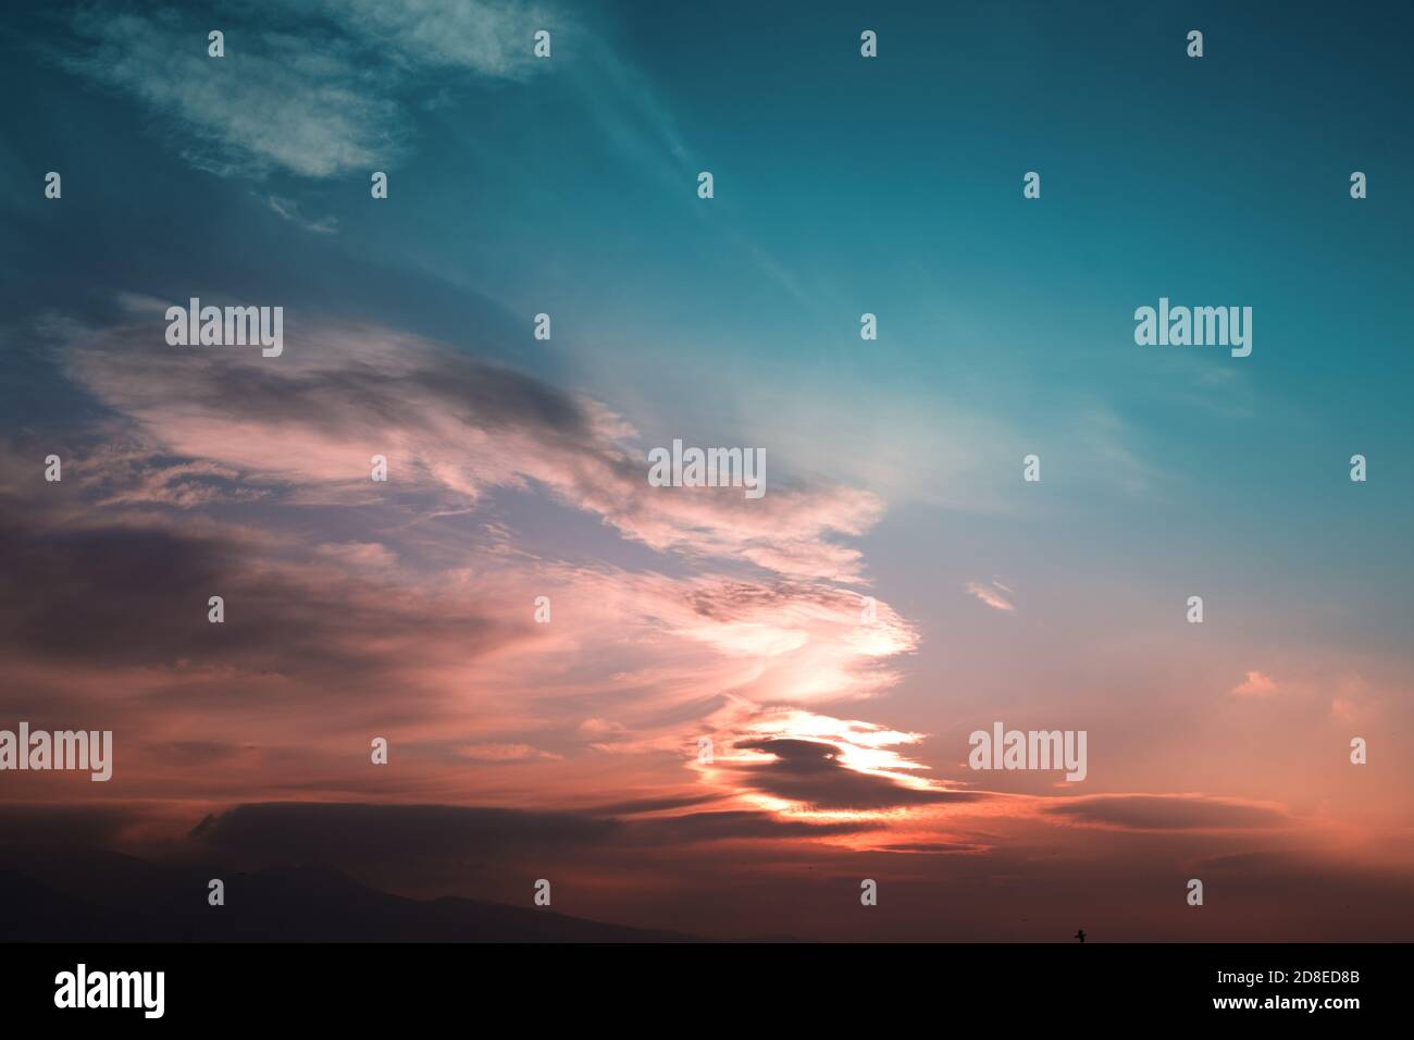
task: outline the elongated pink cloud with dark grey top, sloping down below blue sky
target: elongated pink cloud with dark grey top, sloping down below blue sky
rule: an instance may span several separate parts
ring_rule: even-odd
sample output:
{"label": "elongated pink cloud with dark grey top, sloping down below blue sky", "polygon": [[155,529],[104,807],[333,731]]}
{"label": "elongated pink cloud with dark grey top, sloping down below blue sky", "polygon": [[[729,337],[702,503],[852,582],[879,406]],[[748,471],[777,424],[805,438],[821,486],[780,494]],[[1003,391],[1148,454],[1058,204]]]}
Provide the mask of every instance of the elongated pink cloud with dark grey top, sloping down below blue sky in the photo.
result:
{"label": "elongated pink cloud with dark grey top, sloping down below blue sky", "polygon": [[598,402],[387,330],[305,330],[279,365],[239,348],[178,354],[153,327],[72,334],[71,369],[90,392],[170,454],[247,484],[369,501],[376,453],[399,488],[474,504],[533,483],[656,550],[844,582],[858,580],[860,553],[831,535],[861,535],[882,512],[839,485],[775,485],[755,501],[653,488],[646,453],[625,443],[632,427]]}

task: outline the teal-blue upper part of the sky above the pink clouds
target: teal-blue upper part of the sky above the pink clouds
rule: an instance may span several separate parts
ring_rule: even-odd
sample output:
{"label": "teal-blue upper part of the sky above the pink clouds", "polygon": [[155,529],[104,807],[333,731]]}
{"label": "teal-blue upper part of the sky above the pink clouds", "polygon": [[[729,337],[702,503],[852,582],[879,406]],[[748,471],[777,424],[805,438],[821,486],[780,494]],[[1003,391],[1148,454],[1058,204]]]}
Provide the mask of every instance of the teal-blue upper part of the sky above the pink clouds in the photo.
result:
{"label": "teal-blue upper part of the sky above the pink clouds", "polygon": [[[1133,566],[1161,532],[1179,569],[1373,600],[1340,637],[1403,638],[1381,621],[1410,607],[1390,567],[1410,504],[1398,31],[1321,6],[594,4],[502,13],[512,38],[551,28],[549,62],[423,25],[375,71],[376,4],[134,10],[61,6],[6,44],[44,100],[0,150],[16,335],[109,291],[274,293],[583,388],[652,443],[764,444],[779,474],[861,483],[922,525],[1005,515],[1055,556],[1083,528]],[[327,47],[246,81],[310,16]],[[191,51],[218,21],[243,93],[119,59],[132,34]],[[296,86],[327,109],[240,122]],[[65,174],[62,212],[24,188],[41,167]],[[1131,311],[1161,294],[1251,306],[1253,357],[1137,348]],[[551,344],[526,335],[540,310]],[[1039,516],[1014,480],[1028,451],[1053,481]]]}

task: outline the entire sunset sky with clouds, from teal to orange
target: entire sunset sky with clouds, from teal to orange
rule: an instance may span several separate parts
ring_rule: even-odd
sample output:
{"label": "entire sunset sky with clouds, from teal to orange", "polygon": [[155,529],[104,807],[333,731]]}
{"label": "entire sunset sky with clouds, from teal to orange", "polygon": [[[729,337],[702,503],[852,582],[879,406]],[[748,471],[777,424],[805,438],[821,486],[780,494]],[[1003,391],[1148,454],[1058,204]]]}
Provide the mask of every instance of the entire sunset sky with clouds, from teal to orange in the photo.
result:
{"label": "entire sunset sky with clouds, from teal to orange", "polygon": [[[0,17],[0,729],[115,741],[0,773],[0,842],[713,938],[1410,938],[1407,13]],[[192,297],[283,352],[170,345]],[[1161,297],[1250,357],[1138,345]],[[766,494],[652,487],[674,439]],[[970,768],[995,722],[1085,780]]]}

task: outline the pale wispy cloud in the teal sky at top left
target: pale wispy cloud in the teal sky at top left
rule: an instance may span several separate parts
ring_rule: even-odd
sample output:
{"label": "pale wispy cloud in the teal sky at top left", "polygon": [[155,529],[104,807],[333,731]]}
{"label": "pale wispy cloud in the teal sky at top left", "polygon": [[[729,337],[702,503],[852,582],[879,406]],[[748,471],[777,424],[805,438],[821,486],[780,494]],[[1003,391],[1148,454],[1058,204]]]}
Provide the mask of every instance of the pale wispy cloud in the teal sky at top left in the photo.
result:
{"label": "pale wispy cloud in the teal sky at top left", "polygon": [[[146,105],[198,168],[325,178],[399,156],[409,120],[397,95],[428,69],[530,75],[533,33],[553,18],[491,0],[236,7],[221,18],[222,58],[208,55],[208,23],[178,10],[79,8],[61,62]],[[286,200],[270,205],[311,231],[332,229]]]}

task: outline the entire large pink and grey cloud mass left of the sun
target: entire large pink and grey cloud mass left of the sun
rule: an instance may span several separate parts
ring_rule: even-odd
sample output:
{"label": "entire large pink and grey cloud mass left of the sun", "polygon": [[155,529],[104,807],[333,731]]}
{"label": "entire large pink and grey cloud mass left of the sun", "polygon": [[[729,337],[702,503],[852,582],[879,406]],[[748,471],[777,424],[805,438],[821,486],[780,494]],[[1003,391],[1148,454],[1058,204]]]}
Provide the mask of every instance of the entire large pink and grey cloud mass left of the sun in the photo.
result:
{"label": "entire large pink and grey cloud mass left of the sun", "polygon": [[[851,764],[909,768],[867,757],[916,734],[786,707],[880,696],[918,642],[844,587],[860,556],[837,539],[877,502],[650,488],[605,405],[460,349],[293,321],[279,359],[177,349],[163,301],[127,301],[127,324],[41,330],[100,406],[62,484],[37,494],[33,451],[0,453],[0,709],[141,733],[122,743],[129,791],[373,795],[376,734],[400,801],[734,798],[693,771],[697,737],[782,719]],[[557,518],[549,536],[527,504]]]}

